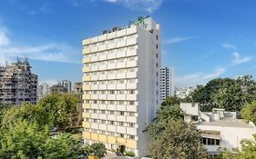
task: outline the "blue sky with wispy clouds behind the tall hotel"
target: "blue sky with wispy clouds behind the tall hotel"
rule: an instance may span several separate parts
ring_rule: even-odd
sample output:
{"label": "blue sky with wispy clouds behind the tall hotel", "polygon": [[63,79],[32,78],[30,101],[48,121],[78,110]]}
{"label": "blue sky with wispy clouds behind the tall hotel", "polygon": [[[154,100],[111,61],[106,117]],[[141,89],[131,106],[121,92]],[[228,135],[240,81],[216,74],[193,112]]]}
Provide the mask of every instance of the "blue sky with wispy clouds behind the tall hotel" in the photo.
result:
{"label": "blue sky with wispy clouds behind the tall hotel", "polygon": [[28,57],[40,83],[81,81],[81,41],[151,15],[177,86],[256,76],[255,0],[3,0],[0,65]]}

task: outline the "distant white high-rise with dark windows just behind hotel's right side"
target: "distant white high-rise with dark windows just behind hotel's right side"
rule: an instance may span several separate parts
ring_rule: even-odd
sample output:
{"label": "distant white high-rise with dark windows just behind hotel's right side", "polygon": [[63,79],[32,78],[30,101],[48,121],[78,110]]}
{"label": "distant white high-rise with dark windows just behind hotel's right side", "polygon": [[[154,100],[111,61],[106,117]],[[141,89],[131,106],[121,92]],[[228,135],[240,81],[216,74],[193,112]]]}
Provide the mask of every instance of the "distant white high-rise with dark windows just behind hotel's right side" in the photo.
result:
{"label": "distant white high-rise with dark windows just behind hotel's right side", "polygon": [[161,67],[161,102],[167,97],[174,95],[174,69],[172,67]]}

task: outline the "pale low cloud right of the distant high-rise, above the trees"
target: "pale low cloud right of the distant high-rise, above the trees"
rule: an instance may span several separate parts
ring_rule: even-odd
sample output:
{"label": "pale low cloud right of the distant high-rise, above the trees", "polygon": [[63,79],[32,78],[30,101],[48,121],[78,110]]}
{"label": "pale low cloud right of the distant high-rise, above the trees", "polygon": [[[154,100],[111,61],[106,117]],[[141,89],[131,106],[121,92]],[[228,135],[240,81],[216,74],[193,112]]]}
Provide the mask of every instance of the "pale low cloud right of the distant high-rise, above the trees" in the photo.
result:
{"label": "pale low cloud right of the distant high-rise, above the trees", "polygon": [[175,85],[181,86],[196,86],[197,84],[206,84],[211,79],[220,77],[225,73],[224,67],[217,67],[212,73],[196,73],[191,75],[177,76],[175,78]]}

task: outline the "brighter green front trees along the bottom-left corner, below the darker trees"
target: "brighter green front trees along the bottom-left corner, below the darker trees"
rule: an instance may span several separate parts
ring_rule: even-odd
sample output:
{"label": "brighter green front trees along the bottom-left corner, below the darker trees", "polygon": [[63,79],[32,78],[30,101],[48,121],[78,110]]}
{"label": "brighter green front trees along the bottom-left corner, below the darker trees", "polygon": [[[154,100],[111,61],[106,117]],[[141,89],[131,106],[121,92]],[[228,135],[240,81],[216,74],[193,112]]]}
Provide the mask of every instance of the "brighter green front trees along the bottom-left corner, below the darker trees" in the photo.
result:
{"label": "brighter green front trees along the bottom-left corner, below the darker trees", "polygon": [[5,159],[77,159],[89,154],[88,147],[72,134],[50,136],[47,127],[40,130],[38,124],[26,120],[2,127],[0,133],[0,157]]}

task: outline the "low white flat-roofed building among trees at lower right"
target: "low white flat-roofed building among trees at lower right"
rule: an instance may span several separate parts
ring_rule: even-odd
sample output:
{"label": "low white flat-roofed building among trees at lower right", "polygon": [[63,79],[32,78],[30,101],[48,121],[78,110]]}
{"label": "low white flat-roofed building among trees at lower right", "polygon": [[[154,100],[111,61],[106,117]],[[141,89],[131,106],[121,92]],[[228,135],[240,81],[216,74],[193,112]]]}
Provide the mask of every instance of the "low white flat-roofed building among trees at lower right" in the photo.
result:
{"label": "low white flat-roofed building among trees at lower right", "polygon": [[243,139],[253,139],[256,134],[254,124],[247,124],[239,119],[236,112],[226,112],[224,109],[213,108],[212,112],[201,112],[199,104],[181,103],[185,122],[192,122],[202,131],[202,143],[214,158],[223,149],[233,151],[241,148]]}

